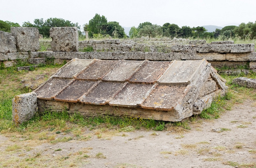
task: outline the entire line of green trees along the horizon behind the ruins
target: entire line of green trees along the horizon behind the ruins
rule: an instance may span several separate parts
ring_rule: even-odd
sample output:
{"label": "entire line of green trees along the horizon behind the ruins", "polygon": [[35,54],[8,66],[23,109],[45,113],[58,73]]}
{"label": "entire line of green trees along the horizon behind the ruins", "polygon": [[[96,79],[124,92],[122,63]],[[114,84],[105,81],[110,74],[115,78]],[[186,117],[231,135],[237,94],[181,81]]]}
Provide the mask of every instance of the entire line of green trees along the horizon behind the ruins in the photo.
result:
{"label": "entire line of green trees along the horizon behind the ruins", "polygon": [[[17,23],[10,21],[0,20],[0,31],[10,32],[11,27],[20,26]],[[240,39],[256,39],[256,21],[248,22],[248,24],[241,23],[239,26],[225,26],[222,29],[216,29],[213,32],[207,32],[202,26],[179,27],[176,24],[166,23],[162,26],[152,24],[151,22],[143,22],[138,27],[133,26],[129,31],[129,36],[124,32],[119,22],[109,21],[105,16],[96,15],[89,21],[89,24],[81,26],[78,23],[72,23],[71,21],[64,20],[62,18],[36,18],[34,23],[29,21],[22,24],[23,27],[38,27],[39,33],[44,37],[49,37],[50,27],[77,27],[80,36],[85,36],[85,32],[89,31],[90,38],[140,38],[142,36],[148,36],[150,38],[168,37],[168,38],[221,38],[223,40],[229,38]]]}

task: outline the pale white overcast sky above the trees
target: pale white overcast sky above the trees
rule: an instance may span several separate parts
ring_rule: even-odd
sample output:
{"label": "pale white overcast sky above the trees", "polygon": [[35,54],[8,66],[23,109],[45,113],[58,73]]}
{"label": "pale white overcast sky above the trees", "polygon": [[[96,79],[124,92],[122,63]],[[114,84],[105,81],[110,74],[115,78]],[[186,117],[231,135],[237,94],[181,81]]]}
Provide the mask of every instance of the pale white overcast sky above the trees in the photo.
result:
{"label": "pale white overcast sky above the trees", "polygon": [[121,26],[138,26],[149,21],[162,26],[166,22],[181,26],[226,26],[256,21],[255,0],[0,0],[0,20],[34,22],[50,17],[89,23],[95,13]]}

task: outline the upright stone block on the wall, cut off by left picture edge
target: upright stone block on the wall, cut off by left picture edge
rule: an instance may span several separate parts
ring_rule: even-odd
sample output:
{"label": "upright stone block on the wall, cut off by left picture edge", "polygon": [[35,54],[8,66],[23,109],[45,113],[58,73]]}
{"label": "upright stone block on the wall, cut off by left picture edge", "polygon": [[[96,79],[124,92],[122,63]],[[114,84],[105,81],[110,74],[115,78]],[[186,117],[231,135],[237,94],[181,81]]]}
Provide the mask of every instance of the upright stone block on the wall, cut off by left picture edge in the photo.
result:
{"label": "upright stone block on the wall, cut off by left picture edge", "polygon": [[16,39],[10,32],[0,31],[0,53],[17,52]]}

